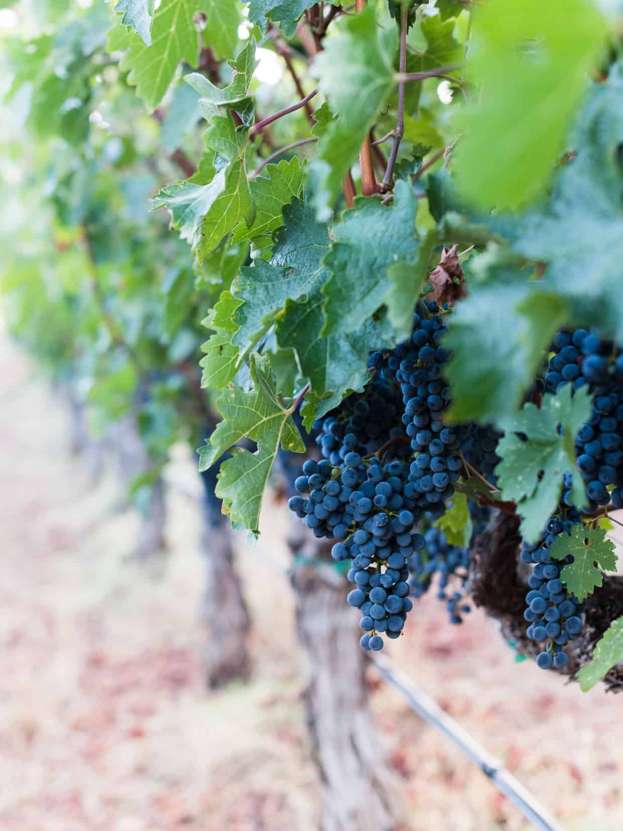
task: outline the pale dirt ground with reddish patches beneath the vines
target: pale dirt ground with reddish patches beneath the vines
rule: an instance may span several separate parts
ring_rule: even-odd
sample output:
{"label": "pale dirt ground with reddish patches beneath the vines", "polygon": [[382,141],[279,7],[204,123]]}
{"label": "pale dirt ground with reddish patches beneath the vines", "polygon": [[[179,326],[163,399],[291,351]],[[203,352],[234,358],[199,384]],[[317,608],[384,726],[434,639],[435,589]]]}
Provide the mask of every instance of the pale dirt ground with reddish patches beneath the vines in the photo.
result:
{"label": "pale dirt ground with reddish patches beneath the vines", "polygon": [[[170,489],[169,553],[128,563],[138,519],[115,510],[114,471],[91,485],[62,401],[0,349],[1,831],[316,831],[282,507],[267,506],[257,546],[238,540],[253,681],[208,694],[196,504]],[[196,487],[178,456],[172,477]],[[517,663],[478,612],[449,627],[429,597],[410,617],[392,660],[567,831],[621,831],[623,701]],[[530,828],[371,670],[370,682],[405,828]]]}

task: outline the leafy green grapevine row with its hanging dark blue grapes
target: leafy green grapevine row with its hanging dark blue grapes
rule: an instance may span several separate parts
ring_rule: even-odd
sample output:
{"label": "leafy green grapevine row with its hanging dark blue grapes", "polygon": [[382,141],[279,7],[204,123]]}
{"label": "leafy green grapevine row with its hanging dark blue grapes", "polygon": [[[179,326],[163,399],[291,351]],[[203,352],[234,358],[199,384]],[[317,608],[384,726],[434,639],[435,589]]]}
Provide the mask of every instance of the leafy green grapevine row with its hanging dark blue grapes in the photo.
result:
{"label": "leafy green grapevine row with its hanging dark blue grapes", "polygon": [[19,6],[8,329],[98,430],[135,419],[145,510],[203,440],[257,536],[302,454],[289,510],[365,652],[432,590],[620,690],[620,10],[244,5]]}

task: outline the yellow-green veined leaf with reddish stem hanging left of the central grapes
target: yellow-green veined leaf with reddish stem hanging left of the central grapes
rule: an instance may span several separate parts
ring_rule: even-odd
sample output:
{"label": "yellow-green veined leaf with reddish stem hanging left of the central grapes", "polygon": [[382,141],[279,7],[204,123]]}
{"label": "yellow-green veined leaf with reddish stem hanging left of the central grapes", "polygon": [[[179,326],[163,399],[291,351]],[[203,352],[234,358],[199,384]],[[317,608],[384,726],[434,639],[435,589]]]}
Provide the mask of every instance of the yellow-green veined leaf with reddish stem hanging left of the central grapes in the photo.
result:
{"label": "yellow-green veined leaf with reddish stem hanging left of the central grapes", "polygon": [[[229,514],[234,527],[258,534],[262,494],[279,445],[303,453],[305,444],[292,420],[291,401],[277,393],[268,357],[253,352],[249,368],[252,390],[230,385],[218,396],[222,420],[199,448],[199,470],[207,470],[229,450],[232,458],[221,465],[216,495],[223,499],[223,513]],[[233,446],[243,438],[257,442],[258,449],[252,453]]]}

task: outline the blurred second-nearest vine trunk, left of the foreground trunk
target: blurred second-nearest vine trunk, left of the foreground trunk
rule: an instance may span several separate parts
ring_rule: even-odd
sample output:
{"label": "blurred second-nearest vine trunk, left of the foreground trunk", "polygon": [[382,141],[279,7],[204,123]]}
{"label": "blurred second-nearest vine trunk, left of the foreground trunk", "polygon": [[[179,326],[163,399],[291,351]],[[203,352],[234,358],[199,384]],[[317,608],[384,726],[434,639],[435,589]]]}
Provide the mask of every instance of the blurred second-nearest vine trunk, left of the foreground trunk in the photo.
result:
{"label": "blurred second-nearest vine trunk, left of the foreground trunk", "polygon": [[206,564],[203,617],[209,635],[205,647],[205,678],[209,689],[229,681],[246,680],[251,672],[248,652],[250,619],[238,578],[229,519],[221,513],[221,500],[214,494],[218,467],[204,471],[204,538]]}

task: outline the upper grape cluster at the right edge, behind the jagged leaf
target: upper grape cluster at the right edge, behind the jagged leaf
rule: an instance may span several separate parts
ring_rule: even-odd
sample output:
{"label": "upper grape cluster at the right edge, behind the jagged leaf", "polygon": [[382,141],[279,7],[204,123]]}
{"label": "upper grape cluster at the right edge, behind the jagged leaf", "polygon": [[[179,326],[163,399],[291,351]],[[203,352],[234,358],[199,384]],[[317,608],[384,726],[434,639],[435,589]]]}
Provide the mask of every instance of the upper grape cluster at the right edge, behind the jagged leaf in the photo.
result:
{"label": "upper grape cluster at the right edge, behind the jagged leaf", "polygon": [[[586,482],[590,510],[612,499],[623,507],[623,354],[614,359],[611,342],[596,332],[576,329],[557,332],[554,355],[545,378],[547,390],[557,392],[571,383],[574,390],[588,385],[592,394],[591,417],[576,435],[576,462]],[[614,485],[612,494],[608,486]],[[571,504],[571,491],[563,495]]]}

